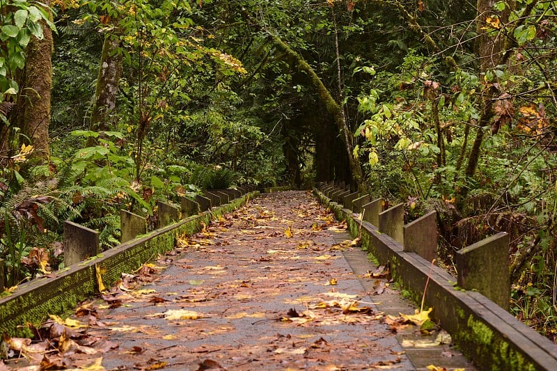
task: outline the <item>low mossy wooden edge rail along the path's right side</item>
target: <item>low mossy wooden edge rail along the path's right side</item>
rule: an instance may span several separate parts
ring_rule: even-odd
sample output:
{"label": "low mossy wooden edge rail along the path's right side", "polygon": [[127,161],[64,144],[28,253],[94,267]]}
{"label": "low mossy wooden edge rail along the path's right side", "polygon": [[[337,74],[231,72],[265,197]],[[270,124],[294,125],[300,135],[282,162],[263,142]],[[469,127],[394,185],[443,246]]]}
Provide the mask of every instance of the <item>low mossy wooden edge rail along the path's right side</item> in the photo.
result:
{"label": "low mossy wooden edge rail along the path's right side", "polygon": [[395,281],[416,303],[422,299],[429,276],[425,304],[434,308],[434,320],[450,333],[462,353],[482,370],[557,370],[557,345],[519,322],[480,292],[456,287],[455,277],[439,267],[431,267],[431,263],[420,255],[404,251],[402,244],[379,232],[368,221],[362,221],[361,214],[331,200],[321,190],[338,196],[343,187],[321,184],[314,192],[339,220],[347,221],[352,235],[361,233],[362,248],[374,255],[380,264],[389,265]]}

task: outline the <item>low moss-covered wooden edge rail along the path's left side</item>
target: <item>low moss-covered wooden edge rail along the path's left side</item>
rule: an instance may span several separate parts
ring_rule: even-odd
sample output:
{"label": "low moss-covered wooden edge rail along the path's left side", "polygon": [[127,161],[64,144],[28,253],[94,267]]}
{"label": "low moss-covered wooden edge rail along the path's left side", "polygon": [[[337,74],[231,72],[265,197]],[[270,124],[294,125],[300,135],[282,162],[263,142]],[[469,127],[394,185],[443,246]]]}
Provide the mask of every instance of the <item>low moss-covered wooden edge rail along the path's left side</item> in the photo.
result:
{"label": "low moss-covered wooden edge rail along the path's left side", "polygon": [[213,217],[235,210],[259,193],[253,186],[246,188],[240,198],[220,207],[189,216],[84,262],[19,285],[13,292],[3,293],[6,297],[0,299],[0,333],[31,336],[27,324],[40,324],[50,314],[65,313],[98,292],[97,272],[104,285],[113,285],[121,273],[134,271],[144,262],[157,258],[159,253],[172,250],[177,235],[198,232],[202,223],[207,225]]}

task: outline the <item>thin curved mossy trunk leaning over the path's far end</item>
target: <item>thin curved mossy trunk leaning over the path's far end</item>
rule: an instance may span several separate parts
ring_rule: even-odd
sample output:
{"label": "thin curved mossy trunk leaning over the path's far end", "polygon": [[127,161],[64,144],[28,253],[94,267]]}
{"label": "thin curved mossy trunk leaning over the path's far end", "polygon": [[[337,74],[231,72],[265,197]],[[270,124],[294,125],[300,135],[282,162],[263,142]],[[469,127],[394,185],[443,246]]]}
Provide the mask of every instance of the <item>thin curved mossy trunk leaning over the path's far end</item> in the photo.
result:
{"label": "thin curved mossy trunk leaning over the path's far end", "polygon": [[324,86],[323,81],[317,76],[311,65],[309,65],[301,55],[292,50],[281,38],[276,35],[269,35],[270,40],[273,45],[283,52],[288,58],[295,63],[299,72],[304,72],[308,79],[310,79],[311,84],[317,90],[317,95],[319,95],[320,100],[323,102],[327,113],[336,123],[338,131],[343,137],[344,146],[347,152],[347,156],[350,162],[350,172],[352,173],[352,179],[358,185],[358,190],[365,193],[367,191],[366,182],[363,179],[363,173],[361,171],[361,164],[358,158],[354,157],[354,136],[352,131],[347,126],[346,121],[343,118],[343,113],[340,106],[334,100],[333,96],[329,90]]}

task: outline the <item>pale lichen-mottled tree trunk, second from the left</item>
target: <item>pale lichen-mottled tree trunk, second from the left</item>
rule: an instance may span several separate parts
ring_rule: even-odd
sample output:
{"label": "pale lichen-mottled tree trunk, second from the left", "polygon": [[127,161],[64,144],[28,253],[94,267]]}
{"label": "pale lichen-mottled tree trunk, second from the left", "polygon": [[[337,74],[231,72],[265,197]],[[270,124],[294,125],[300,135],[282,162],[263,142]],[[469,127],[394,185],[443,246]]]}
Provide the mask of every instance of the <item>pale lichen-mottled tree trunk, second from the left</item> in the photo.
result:
{"label": "pale lichen-mottled tree trunk, second from the left", "polygon": [[107,34],[102,45],[95,102],[91,111],[91,130],[109,129],[110,114],[116,107],[118,84],[122,75],[121,42],[113,34]]}

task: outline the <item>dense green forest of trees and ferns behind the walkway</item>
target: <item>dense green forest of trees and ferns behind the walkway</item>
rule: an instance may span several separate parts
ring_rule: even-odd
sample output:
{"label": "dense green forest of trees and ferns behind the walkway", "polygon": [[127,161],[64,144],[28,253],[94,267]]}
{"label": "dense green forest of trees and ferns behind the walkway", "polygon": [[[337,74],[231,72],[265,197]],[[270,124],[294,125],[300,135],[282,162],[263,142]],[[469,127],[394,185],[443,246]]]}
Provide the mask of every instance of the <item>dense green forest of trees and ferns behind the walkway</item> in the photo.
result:
{"label": "dense green forest of trees and ferns behind the walkway", "polygon": [[511,311],[556,341],[555,1],[1,2],[0,257],[63,267],[66,219],[251,183],[345,181],[439,265],[511,235]]}

